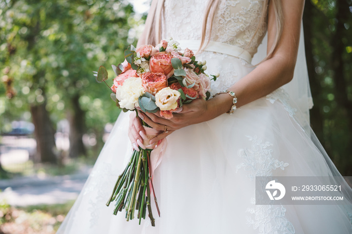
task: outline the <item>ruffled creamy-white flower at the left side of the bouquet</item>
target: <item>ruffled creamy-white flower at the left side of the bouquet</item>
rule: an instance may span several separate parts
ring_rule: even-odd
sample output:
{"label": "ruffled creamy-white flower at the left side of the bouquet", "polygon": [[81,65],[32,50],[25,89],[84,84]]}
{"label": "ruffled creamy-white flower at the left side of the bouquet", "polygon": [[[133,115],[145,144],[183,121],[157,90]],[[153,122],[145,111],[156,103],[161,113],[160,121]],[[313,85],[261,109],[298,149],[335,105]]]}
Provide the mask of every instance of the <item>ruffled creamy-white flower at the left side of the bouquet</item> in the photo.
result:
{"label": "ruffled creamy-white flower at the left side of the bouquet", "polygon": [[145,93],[140,77],[127,78],[123,85],[116,88],[116,98],[121,108],[134,110],[139,106],[138,98]]}

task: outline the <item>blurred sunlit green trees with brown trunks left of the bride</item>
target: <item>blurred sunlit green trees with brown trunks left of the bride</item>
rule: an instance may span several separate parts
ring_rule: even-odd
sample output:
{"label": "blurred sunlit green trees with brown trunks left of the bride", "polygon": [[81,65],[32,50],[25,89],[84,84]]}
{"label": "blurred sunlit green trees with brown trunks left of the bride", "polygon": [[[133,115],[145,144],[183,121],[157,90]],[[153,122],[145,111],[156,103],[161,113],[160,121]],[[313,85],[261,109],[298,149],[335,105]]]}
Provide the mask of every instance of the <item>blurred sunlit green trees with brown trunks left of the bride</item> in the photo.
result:
{"label": "blurred sunlit green trees with brown trunks left of the bride", "polygon": [[109,89],[95,83],[92,71],[122,62],[143,20],[125,1],[0,0],[0,7],[0,67],[15,90],[5,99],[8,92],[0,89],[0,101],[6,100],[0,115],[32,116],[41,160],[50,162],[56,158],[52,123],[66,117],[69,155],[85,155],[87,129],[101,138],[118,115]]}

